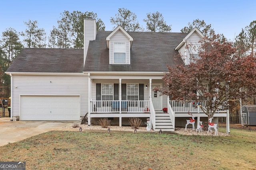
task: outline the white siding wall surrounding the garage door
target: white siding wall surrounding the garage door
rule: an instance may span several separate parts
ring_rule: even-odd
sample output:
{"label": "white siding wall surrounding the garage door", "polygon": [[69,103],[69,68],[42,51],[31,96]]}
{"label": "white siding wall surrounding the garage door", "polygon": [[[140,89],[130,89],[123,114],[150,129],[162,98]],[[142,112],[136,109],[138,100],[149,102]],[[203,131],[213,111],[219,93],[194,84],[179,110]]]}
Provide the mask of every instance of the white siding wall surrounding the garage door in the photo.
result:
{"label": "white siding wall surrounding the garage door", "polygon": [[87,76],[32,76],[12,75],[12,114],[20,113],[20,95],[78,96],[80,95],[80,113],[88,111]]}

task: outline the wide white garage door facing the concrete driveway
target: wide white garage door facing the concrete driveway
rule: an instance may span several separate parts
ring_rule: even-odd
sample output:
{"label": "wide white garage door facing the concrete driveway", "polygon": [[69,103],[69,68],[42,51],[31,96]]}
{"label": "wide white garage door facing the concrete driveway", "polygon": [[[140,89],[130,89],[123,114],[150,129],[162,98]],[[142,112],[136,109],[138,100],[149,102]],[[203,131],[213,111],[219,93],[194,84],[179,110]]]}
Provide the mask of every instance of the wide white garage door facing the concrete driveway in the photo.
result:
{"label": "wide white garage door facing the concrete driveway", "polygon": [[21,96],[20,120],[79,120],[79,96]]}

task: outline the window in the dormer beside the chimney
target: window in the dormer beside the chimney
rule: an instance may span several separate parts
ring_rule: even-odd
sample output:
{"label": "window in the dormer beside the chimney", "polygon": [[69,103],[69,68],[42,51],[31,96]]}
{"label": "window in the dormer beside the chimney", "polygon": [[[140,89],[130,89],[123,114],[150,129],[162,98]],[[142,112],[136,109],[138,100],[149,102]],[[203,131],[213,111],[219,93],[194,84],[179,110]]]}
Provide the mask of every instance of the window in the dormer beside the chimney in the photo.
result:
{"label": "window in the dormer beside the chimney", "polygon": [[114,43],[114,63],[126,63],[126,43]]}

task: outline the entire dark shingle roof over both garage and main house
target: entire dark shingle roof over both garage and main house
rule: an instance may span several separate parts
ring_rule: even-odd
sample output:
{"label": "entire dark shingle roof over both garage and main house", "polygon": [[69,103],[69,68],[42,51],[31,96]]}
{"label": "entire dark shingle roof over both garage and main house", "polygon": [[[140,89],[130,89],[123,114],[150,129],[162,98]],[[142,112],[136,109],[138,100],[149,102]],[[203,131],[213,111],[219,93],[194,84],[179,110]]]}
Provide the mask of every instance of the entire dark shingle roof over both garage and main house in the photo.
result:
{"label": "entire dark shingle roof over both garage and main house", "polygon": [[166,72],[166,64],[182,63],[174,60],[174,48],[188,33],[128,32],[133,38],[130,65],[109,64],[106,37],[111,31],[97,31],[90,41],[83,68],[83,49],[24,48],[6,72]]}

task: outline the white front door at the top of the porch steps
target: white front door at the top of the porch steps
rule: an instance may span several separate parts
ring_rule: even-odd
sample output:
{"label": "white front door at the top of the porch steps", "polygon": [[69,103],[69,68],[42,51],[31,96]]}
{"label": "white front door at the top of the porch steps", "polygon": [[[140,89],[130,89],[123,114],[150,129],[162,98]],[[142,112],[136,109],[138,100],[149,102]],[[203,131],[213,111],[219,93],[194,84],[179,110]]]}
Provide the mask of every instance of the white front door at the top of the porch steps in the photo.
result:
{"label": "white front door at the top of the porch steps", "polygon": [[154,109],[159,111],[159,110],[162,110],[162,96],[160,96],[160,92],[153,90],[155,87],[162,88],[162,84],[152,84],[151,85],[152,103],[153,103]]}

